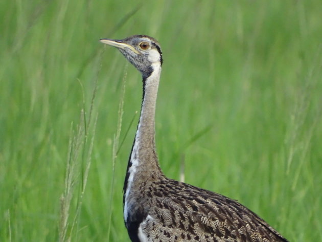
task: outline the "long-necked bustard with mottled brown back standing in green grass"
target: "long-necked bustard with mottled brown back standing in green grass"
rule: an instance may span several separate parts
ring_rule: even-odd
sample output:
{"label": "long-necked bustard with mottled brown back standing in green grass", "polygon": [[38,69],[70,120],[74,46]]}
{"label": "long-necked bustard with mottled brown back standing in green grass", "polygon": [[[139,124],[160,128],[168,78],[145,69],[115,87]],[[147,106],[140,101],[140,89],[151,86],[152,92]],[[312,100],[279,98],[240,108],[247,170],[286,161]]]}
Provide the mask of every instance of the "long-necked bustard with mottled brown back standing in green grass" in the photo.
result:
{"label": "long-necked bustard with mottled brown back standing in green grass", "polygon": [[155,148],[155,107],[163,63],[159,42],[147,35],[100,39],[139,70],[143,98],[123,188],[123,216],[132,242],[287,242],[239,202],[169,179]]}

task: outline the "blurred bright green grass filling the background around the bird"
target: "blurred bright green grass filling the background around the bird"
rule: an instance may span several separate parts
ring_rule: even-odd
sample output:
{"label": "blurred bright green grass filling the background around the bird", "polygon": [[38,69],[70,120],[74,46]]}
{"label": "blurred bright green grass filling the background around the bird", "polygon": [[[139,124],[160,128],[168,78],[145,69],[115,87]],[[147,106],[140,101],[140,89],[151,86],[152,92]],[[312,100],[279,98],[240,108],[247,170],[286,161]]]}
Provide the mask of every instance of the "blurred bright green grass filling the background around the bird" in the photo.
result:
{"label": "blurred bright green grass filling the background around the bird", "polygon": [[187,183],[290,241],[322,240],[319,1],[17,0],[0,16],[1,241],[129,241],[122,187],[141,77],[98,40],[132,34],[163,47],[168,177],[183,160]]}

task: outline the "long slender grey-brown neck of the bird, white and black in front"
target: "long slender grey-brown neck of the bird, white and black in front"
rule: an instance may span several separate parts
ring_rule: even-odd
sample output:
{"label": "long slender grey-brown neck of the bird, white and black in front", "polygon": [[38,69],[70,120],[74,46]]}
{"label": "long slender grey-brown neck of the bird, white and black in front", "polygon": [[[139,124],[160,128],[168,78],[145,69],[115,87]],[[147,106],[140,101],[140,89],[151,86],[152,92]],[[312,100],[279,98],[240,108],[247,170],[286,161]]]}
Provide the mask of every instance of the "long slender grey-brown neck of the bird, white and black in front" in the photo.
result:
{"label": "long slender grey-brown neck of the bird, white and black in front", "polygon": [[155,105],[159,77],[161,72],[160,63],[151,65],[153,71],[143,79],[143,100],[139,124],[132,146],[124,181],[124,220],[127,224],[131,213],[135,212],[134,204],[141,197],[142,184],[156,179],[162,175],[158,165],[155,150]]}

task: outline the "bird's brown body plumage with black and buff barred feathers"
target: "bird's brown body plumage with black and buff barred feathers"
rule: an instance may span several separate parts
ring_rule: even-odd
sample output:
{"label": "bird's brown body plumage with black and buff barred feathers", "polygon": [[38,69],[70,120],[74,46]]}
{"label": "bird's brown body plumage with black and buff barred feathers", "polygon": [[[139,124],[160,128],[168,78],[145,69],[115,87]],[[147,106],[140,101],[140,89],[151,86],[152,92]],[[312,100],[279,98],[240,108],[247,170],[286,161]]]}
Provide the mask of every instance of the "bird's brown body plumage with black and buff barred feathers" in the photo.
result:
{"label": "bird's brown body plumage with black and buff barred feathers", "polygon": [[145,199],[137,201],[135,218],[141,242],[287,241],[254,212],[215,192],[164,178],[140,193]]}

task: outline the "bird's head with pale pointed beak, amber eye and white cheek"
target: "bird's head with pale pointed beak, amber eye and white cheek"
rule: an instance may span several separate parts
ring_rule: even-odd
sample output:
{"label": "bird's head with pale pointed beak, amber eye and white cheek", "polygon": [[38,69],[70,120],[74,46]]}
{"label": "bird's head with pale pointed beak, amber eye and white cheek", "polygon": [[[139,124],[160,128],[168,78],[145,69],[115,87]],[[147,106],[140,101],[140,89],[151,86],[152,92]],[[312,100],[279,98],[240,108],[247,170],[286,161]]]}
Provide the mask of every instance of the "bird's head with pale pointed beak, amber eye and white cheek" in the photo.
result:
{"label": "bird's head with pale pointed beak, amber eye and white cheek", "polygon": [[155,67],[162,65],[162,51],[159,43],[147,35],[133,35],[125,39],[100,39],[102,43],[114,46],[139,70],[143,77],[152,74]]}

